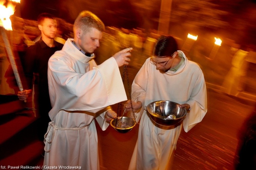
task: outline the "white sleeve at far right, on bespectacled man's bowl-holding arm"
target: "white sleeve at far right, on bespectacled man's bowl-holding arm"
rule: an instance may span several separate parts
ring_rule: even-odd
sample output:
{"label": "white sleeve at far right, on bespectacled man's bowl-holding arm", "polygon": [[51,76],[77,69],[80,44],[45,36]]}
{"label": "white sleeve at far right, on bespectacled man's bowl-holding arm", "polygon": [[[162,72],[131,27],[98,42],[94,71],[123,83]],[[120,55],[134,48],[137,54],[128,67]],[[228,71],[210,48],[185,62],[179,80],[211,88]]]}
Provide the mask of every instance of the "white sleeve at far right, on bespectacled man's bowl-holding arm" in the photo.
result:
{"label": "white sleeve at far right, on bespectacled man's bowl-holding arm", "polygon": [[188,132],[197,123],[201,122],[207,112],[206,84],[201,70],[196,83],[191,88],[193,88],[193,90],[189,100],[187,101],[187,104],[190,105],[190,111],[183,120],[183,128],[185,132]]}

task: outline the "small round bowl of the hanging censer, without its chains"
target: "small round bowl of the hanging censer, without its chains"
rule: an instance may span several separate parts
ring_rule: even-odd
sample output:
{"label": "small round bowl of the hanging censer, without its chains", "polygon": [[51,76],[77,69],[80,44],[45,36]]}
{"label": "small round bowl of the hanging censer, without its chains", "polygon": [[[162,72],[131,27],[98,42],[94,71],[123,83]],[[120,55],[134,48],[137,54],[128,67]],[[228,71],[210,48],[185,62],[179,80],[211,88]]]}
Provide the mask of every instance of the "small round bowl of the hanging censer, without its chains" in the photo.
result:
{"label": "small round bowl of the hanging censer, without its chains", "polygon": [[[117,121],[117,124],[116,124]],[[119,121],[121,121],[121,123],[125,124],[125,127],[122,128],[122,126],[120,126]],[[116,119],[112,119],[110,121],[110,125],[117,131],[120,133],[127,133],[130,132],[133,127],[136,125],[134,119],[130,118],[130,117],[117,117]]]}

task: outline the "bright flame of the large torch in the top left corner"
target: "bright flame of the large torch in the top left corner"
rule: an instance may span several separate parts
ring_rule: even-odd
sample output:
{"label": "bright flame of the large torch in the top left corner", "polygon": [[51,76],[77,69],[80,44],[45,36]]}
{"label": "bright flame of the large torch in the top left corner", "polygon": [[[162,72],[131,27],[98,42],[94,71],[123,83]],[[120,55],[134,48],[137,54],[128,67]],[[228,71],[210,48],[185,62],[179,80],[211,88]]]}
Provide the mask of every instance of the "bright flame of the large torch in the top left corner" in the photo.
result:
{"label": "bright flame of the large torch in the top left corner", "polygon": [[[19,2],[19,0],[13,0]],[[7,7],[4,5],[5,1],[0,0],[0,26],[4,27],[6,30],[12,30],[10,16],[14,14],[15,6],[12,3],[8,3]]]}

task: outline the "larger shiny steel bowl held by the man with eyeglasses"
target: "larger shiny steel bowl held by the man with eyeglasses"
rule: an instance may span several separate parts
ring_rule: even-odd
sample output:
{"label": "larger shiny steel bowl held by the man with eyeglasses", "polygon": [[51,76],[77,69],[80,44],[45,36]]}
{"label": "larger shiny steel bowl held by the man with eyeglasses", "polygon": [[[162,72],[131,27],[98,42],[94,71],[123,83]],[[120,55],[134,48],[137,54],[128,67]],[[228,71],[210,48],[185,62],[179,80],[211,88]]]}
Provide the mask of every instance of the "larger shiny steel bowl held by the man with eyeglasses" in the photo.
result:
{"label": "larger shiny steel bowl held by the man with eyeglasses", "polygon": [[154,101],[148,104],[147,111],[151,119],[162,126],[177,125],[187,115],[185,108],[180,108],[178,103],[172,101]]}

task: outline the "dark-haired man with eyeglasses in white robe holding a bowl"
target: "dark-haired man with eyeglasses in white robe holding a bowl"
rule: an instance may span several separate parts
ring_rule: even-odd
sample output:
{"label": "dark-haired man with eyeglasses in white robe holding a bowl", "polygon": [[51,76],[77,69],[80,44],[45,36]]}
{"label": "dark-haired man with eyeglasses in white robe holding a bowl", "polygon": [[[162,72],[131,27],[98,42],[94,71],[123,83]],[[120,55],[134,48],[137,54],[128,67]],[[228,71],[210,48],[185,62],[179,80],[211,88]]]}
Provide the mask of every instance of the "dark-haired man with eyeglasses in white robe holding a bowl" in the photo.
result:
{"label": "dark-haired man with eyeglasses in white robe holding a bowl", "polygon": [[[167,100],[179,103],[187,116],[176,127],[163,127],[154,123],[144,109],[153,101]],[[139,122],[138,140],[129,169],[171,169],[171,156],[182,126],[188,132],[201,122],[207,112],[206,85],[197,63],[189,61],[178,50],[175,39],[160,36],[154,56],[148,58],[132,84],[132,106]],[[131,110],[130,101],[126,110]]]}

